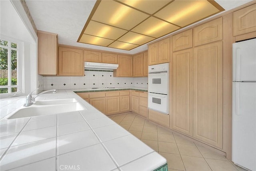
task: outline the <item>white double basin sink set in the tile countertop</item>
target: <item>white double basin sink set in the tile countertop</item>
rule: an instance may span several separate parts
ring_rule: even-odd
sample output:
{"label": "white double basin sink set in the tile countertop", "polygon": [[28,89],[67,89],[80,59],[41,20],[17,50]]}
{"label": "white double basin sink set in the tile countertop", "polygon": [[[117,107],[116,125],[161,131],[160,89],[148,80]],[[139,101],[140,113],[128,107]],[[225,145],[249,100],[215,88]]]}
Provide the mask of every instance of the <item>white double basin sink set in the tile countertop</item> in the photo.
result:
{"label": "white double basin sink set in the tile countertop", "polygon": [[57,113],[66,113],[72,111],[87,110],[76,99],[56,99],[35,101],[28,107],[20,107],[12,113],[6,115],[3,119],[15,119],[21,117],[34,117],[43,115],[53,115]]}

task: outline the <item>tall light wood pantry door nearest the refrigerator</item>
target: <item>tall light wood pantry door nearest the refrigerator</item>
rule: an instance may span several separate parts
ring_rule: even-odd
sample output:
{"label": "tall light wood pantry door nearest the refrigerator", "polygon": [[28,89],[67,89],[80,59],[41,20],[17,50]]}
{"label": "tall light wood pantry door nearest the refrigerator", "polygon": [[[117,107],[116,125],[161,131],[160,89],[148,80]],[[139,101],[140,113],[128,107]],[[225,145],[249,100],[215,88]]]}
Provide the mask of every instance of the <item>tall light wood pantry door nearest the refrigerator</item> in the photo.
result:
{"label": "tall light wood pantry door nearest the refrigerator", "polygon": [[222,148],[222,42],[194,48],[193,136]]}

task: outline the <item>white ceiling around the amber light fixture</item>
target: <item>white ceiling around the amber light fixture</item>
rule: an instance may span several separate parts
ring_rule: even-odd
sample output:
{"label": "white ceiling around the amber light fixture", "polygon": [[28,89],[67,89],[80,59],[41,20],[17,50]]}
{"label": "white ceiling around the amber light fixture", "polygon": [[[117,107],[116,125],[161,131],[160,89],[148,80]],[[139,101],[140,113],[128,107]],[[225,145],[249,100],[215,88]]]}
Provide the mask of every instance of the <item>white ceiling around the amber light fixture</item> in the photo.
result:
{"label": "white ceiling around the amber light fixture", "polygon": [[[215,1],[228,11],[252,0]],[[126,54],[136,54],[148,49],[147,44],[127,51],[76,42],[95,2],[96,0],[26,0],[36,28],[58,34],[58,44]]]}

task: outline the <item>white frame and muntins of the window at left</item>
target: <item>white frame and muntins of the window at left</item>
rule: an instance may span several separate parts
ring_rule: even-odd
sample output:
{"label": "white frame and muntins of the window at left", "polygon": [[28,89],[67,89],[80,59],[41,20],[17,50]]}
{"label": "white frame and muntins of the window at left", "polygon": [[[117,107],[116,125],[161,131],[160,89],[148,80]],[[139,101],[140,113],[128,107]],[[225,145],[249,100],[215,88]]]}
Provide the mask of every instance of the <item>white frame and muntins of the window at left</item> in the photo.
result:
{"label": "white frame and muntins of the window at left", "polygon": [[[10,38],[0,35],[0,40],[8,41],[8,46],[2,46],[1,48],[8,49],[8,85],[0,85],[0,88],[8,88],[8,93],[0,93],[0,98],[12,97],[18,95],[24,95],[24,42],[18,39]],[[11,43],[16,43],[17,48],[12,48]],[[11,51],[17,51],[17,85],[12,85],[11,78]],[[12,87],[17,87],[17,92],[11,92]]]}

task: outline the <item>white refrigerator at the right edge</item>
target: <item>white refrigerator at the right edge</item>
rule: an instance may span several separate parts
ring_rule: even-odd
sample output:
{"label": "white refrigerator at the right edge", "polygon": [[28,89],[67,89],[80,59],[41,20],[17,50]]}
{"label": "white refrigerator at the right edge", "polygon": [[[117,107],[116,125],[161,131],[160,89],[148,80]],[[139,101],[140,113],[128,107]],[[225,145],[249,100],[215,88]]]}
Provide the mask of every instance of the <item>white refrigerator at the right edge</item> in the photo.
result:
{"label": "white refrigerator at the right edge", "polygon": [[256,39],[233,44],[232,161],[256,171]]}

